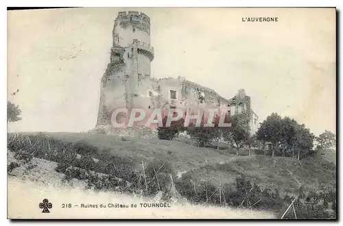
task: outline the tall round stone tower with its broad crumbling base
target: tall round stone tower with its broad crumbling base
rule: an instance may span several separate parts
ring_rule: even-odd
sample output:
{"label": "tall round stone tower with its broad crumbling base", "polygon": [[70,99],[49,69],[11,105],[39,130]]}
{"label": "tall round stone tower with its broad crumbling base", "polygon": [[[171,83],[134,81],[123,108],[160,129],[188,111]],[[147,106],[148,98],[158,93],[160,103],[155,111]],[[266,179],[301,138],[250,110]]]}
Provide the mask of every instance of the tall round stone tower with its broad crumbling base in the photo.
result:
{"label": "tall round stone tower with its broad crumbling base", "polygon": [[109,125],[116,108],[139,105],[139,79],[150,78],[153,59],[150,18],[142,12],[119,12],[113,27],[110,64],[102,77],[97,125]]}

